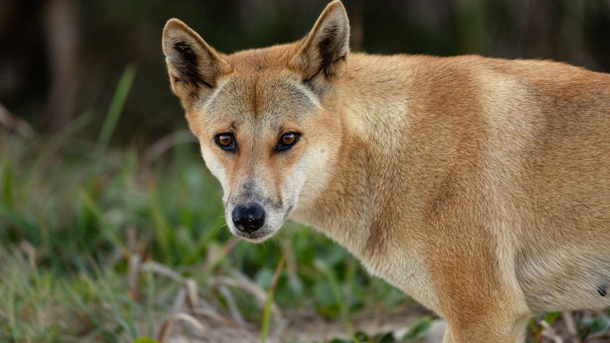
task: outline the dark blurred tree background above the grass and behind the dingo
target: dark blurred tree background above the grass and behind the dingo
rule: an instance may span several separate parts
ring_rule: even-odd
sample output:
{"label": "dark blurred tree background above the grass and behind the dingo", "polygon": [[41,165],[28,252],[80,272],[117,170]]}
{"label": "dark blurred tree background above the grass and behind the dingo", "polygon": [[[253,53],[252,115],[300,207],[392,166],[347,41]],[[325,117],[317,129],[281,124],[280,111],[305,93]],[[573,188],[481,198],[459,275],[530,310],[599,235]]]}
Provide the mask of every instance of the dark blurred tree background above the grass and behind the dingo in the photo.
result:
{"label": "dark blurred tree background above the grass and behind the dingo", "polygon": [[[352,49],[554,59],[610,71],[608,0],[346,0]],[[114,135],[147,144],[185,122],[168,91],[163,24],[179,18],[222,52],[303,37],[326,0],[4,1],[0,102],[37,131],[104,108],[128,64],[138,76]],[[96,116],[98,124],[102,116]],[[94,126],[95,127],[95,126]]]}

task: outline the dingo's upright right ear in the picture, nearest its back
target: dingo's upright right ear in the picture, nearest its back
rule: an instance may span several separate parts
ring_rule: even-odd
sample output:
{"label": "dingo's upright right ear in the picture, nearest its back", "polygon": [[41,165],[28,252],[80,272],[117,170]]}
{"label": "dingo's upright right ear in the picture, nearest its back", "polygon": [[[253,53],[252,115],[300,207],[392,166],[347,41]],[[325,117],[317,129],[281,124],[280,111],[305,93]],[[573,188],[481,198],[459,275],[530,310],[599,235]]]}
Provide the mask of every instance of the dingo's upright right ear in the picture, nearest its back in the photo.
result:
{"label": "dingo's upright right ear in the picture, nearest its back", "polygon": [[350,23],[339,0],[326,6],[314,28],[301,41],[292,60],[306,81],[329,79],[340,70],[350,52]]}

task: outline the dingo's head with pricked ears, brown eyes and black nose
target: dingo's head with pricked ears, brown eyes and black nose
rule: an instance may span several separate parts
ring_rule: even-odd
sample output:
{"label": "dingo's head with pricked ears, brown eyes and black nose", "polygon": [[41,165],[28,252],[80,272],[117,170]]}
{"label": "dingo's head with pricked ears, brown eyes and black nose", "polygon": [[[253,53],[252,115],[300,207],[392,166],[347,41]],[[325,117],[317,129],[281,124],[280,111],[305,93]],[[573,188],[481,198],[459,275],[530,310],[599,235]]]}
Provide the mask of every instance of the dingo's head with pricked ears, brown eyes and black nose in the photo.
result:
{"label": "dingo's head with pricked ears, brown eyes and black nose", "polygon": [[331,100],[349,52],[340,1],[298,42],[224,55],[182,21],[163,30],[171,88],[223,186],[233,234],[260,242],[321,191],[342,144]]}

